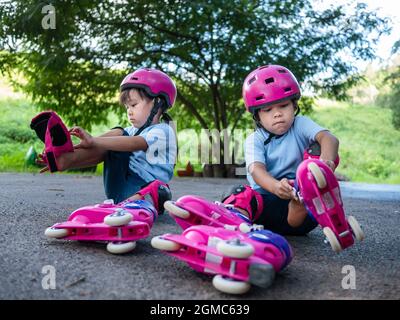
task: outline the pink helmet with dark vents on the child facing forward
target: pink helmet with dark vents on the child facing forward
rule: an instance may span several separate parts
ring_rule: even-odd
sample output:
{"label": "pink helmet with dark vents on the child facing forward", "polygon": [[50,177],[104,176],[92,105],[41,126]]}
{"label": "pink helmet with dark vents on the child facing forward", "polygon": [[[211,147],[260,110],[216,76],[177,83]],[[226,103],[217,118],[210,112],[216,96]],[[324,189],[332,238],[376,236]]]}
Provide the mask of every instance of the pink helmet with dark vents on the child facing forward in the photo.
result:
{"label": "pink helmet with dark vents on the child facing forward", "polygon": [[288,99],[299,99],[300,86],[289,69],[266,65],[250,72],[243,83],[242,95],[246,110],[255,111]]}

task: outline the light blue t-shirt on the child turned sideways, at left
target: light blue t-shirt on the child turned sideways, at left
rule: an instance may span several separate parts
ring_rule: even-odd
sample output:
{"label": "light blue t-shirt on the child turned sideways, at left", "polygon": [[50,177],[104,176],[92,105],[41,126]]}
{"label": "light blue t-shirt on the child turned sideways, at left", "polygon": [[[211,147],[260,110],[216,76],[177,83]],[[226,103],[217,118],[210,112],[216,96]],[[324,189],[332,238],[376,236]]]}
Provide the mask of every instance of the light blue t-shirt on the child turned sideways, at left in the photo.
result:
{"label": "light blue t-shirt on the child turned sideways, at left", "polygon": [[[125,128],[130,136],[137,130],[134,126]],[[168,183],[174,174],[177,153],[174,130],[168,124],[160,123],[147,127],[139,136],[146,140],[148,148],[131,153],[130,170],[146,182],[158,179]]]}

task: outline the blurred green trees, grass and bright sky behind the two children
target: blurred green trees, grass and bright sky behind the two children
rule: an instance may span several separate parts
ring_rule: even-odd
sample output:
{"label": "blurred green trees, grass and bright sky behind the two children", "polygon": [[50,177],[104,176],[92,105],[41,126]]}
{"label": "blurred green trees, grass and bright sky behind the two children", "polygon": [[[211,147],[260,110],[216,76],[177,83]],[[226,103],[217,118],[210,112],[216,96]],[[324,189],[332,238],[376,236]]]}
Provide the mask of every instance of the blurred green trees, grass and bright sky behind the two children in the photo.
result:
{"label": "blurred green trees, grass and bright sky behind the two children", "polygon": [[[49,1],[57,23],[45,30],[42,1],[5,1],[0,171],[38,170],[25,164],[25,156],[30,147],[43,148],[29,129],[41,110],[53,109],[68,126],[81,125],[94,135],[127,125],[118,84],[145,66],[166,71],[177,83],[171,114],[178,133],[228,129],[235,135],[253,126],[243,112],[243,79],[272,63],[294,72],[303,88],[302,112],[340,139],[341,175],[400,183],[400,41],[393,43],[390,61],[374,60],[393,21],[362,2],[323,9],[317,2]],[[371,63],[360,69],[360,61]],[[188,161],[203,169],[185,153],[177,168]],[[221,170],[226,175],[227,168]],[[100,165],[96,174],[101,171]]]}

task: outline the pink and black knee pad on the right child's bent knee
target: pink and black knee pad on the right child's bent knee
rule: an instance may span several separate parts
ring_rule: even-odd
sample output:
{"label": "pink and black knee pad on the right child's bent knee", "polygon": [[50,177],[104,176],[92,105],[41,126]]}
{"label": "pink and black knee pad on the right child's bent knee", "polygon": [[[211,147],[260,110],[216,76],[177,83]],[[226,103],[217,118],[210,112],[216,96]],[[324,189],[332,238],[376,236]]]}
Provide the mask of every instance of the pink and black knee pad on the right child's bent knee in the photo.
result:
{"label": "pink and black knee pad on the right child's bent knee", "polygon": [[251,221],[255,221],[263,211],[261,195],[248,185],[238,185],[231,189],[230,195],[222,200],[223,204],[230,204],[236,208],[246,210]]}

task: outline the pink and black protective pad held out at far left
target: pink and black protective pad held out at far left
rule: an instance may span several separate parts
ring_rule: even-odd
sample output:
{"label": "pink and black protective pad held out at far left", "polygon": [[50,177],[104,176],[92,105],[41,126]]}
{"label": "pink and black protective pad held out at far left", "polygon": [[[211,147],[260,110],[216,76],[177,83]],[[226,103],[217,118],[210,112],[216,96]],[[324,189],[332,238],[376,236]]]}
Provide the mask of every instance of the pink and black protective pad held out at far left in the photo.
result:
{"label": "pink and black protective pad held out at far left", "polygon": [[36,135],[45,145],[42,159],[49,166],[50,172],[58,171],[57,157],[74,151],[67,127],[57,113],[44,111],[32,119],[31,129],[35,130]]}

